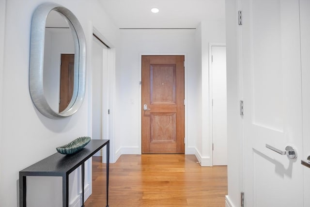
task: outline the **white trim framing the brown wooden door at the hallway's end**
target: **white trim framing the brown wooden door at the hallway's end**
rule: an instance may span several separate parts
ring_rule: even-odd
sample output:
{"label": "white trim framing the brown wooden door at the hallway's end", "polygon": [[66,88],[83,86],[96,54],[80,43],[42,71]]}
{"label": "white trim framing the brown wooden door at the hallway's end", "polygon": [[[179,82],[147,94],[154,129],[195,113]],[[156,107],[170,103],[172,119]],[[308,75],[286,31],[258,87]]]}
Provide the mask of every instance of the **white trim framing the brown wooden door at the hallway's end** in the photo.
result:
{"label": "white trim framing the brown wooden door at the hallway's end", "polygon": [[[168,53],[140,53],[139,54],[139,73],[140,73],[140,81],[142,80],[142,65],[141,65],[141,61],[142,61],[142,55],[183,55],[184,56],[184,98],[185,98],[185,108],[184,108],[184,136],[185,136],[185,149],[184,152],[187,155],[188,153],[188,147],[187,147],[187,53],[180,53],[180,52],[168,52]],[[140,90],[139,90],[139,103],[141,103],[142,101],[142,87],[140,85]],[[142,110],[142,105],[140,104],[139,107],[139,148],[140,148],[140,154],[142,152],[141,150],[141,141],[142,141],[142,114],[141,114],[141,110]]]}

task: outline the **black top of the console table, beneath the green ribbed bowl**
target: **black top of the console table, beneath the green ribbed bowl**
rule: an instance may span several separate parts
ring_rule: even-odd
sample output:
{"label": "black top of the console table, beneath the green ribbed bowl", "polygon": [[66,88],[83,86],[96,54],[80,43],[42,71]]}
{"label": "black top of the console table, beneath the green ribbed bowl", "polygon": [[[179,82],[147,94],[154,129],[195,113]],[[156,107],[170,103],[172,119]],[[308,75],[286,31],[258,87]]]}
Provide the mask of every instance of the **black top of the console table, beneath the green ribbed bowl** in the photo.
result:
{"label": "black top of the console table, beneath the green ribbed bowl", "polygon": [[91,140],[83,149],[72,155],[55,153],[19,171],[23,176],[64,176],[69,175],[87,159],[104,147],[109,140]]}

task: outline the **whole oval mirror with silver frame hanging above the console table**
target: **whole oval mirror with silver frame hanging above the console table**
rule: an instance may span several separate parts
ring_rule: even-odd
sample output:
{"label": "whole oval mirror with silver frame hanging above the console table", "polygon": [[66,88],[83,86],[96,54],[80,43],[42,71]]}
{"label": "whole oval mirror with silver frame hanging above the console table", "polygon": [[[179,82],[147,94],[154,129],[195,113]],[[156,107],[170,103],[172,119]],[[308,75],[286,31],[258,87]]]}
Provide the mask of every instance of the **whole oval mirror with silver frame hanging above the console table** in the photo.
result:
{"label": "whole oval mirror with silver frame hanging above the console table", "polygon": [[85,95],[85,36],[68,9],[44,3],[31,22],[29,87],[36,108],[49,118],[78,111]]}

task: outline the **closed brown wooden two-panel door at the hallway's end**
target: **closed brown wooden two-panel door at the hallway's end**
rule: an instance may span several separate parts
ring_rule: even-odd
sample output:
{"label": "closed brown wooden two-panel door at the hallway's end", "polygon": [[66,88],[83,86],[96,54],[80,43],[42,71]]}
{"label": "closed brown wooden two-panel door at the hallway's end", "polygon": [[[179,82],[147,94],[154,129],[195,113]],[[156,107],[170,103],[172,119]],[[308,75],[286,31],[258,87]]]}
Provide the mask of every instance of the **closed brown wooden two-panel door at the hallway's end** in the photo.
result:
{"label": "closed brown wooden two-panel door at the hallway's end", "polygon": [[184,153],[184,56],[142,56],[141,104],[142,153]]}

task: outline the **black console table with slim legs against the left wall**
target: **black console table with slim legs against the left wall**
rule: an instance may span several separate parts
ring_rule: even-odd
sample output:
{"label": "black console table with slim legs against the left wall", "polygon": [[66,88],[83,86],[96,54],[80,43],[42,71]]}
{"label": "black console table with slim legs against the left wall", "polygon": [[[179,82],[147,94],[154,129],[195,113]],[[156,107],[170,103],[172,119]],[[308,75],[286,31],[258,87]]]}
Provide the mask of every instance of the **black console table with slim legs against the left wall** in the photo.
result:
{"label": "black console table with slim legs against the left wall", "polygon": [[72,155],[55,153],[19,171],[19,206],[26,207],[27,176],[61,176],[62,207],[69,207],[69,174],[82,168],[82,207],[84,207],[84,163],[101,148],[107,146],[107,206],[109,207],[109,140],[91,140],[83,149]]}

